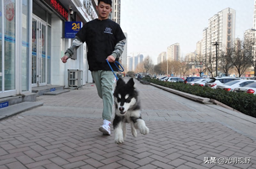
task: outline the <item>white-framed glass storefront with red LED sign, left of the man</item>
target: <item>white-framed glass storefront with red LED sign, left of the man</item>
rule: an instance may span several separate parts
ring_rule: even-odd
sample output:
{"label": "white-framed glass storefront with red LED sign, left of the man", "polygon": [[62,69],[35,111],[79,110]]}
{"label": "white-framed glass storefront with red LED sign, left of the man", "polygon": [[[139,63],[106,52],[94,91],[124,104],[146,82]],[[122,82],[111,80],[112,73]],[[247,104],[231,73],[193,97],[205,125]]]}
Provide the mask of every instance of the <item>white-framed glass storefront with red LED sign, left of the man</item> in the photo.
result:
{"label": "white-framed glass storefront with red LED sign, left of the man", "polygon": [[96,18],[95,6],[91,0],[2,0],[0,98],[31,93],[38,86],[68,88],[68,69],[83,71],[83,85],[92,82],[86,44],[68,63],[60,58],[72,43],[64,38],[65,22],[84,24]]}

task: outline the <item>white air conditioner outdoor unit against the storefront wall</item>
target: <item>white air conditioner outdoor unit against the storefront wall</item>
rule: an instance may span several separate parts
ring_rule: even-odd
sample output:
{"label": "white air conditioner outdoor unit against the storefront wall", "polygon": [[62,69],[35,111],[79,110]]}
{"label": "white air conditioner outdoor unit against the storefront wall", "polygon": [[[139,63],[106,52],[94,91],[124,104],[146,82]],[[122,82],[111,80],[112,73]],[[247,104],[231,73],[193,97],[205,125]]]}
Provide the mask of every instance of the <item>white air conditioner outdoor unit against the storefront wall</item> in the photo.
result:
{"label": "white air conditioner outdoor unit against the storefront wall", "polygon": [[83,84],[83,71],[78,69],[68,69],[68,88],[80,89]]}

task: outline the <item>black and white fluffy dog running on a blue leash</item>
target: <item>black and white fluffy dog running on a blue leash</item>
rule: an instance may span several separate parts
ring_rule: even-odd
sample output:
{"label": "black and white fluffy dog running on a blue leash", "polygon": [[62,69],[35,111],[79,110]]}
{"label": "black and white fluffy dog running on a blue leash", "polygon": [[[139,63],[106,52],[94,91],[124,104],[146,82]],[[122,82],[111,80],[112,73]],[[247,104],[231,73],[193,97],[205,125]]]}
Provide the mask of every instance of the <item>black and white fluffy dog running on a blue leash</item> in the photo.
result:
{"label": "black and white fluffy dog running on a blue leash", "polygon": [[115,133],[115,143],[124,142],[126,137],[126,123],[131,123],[132,135],[137,137],[136,129],[140,130],[141,134],[148,134],[149,129],[144,120],[141,118],[140,100],[138,91],[134,87],[133,78],[127,83],[122,78],[116,82],[114,91],[115,99],[115,118],[113,127]]}

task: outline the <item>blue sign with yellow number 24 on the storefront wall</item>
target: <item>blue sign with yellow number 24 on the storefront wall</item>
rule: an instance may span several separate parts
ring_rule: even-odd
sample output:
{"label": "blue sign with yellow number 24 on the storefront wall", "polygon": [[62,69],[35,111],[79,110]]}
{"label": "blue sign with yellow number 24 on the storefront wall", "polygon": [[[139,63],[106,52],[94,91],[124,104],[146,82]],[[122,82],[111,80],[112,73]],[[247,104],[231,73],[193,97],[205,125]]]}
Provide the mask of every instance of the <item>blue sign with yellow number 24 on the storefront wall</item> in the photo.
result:
{"label": "blue sign with yellow number 24 on the storefront wall", "polygon": [[82,22],[65,22],[65,38],[75,38],[76,33],[81,29]]}

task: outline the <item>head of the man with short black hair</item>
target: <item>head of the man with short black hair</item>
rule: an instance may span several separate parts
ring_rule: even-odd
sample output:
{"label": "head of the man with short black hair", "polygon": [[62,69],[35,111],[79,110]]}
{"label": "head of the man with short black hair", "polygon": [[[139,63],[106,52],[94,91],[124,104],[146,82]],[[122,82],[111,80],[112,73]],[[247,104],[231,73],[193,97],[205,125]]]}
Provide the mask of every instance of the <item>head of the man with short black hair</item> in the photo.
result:
{"label": "head of the man with short black hair", "polygon": [[100,20],[102,19],[108,19],[109,13],[112,11],[112,0],[99,0],[98,6],[96,6],[96,9],[98,11],[98,18]]}

